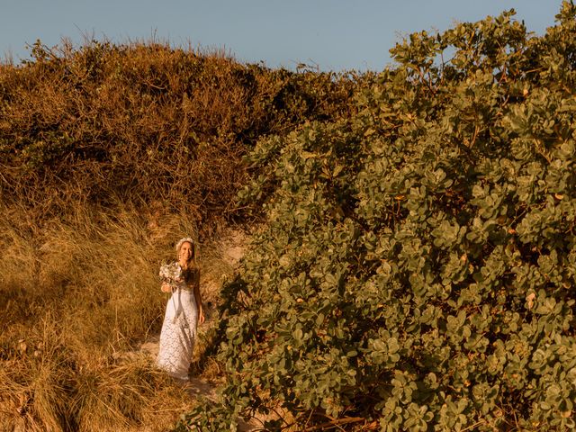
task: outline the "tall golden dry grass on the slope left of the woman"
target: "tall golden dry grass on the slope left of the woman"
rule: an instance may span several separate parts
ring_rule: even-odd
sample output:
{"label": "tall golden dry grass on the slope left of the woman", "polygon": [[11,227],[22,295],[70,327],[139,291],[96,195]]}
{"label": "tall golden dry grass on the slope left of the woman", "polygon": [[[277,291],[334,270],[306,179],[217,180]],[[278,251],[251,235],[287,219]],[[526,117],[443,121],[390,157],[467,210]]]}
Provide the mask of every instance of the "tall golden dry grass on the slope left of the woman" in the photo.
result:
{"label": "tall golden dry grass on the slope left of the woman", "polygon": [[0,209],[0,430],[166,430],[190,407],[147,356],[121,354],[158,331],[157,266],[197,227],[117,209],[78,206],[36,232]]}

